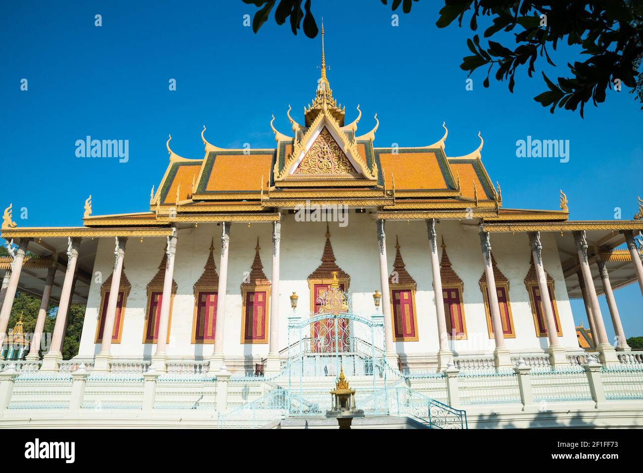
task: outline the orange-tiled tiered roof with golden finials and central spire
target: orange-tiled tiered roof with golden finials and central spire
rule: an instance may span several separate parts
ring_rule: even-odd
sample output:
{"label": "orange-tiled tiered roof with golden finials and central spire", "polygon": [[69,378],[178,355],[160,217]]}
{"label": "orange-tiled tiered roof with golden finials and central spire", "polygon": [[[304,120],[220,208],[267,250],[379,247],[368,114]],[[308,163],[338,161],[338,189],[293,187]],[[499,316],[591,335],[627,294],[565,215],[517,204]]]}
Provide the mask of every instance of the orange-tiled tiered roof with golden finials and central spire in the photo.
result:
{"label": "orange-tiled tiered roof with golden finials and central spire", "polygon": [[[466,218],[493,222],[565,221],[566,207],[554,211],[505,210],[482,164],[480,145],[465,156],[446,154],[448,129],[431,145],[406,148],[374,146],[379,127],[358,133],[357,118],[345,125],[345,107],[332,94],[323,48],[321,77],[304,123],[286,112],[292,135],[270,127],[276,146],[224,149],[208,143],[201,131],[204,156],[186,159],[166,143],[170,157],[150,211],[128,215],[87,215],[86,226],[168,225],[172,222],[222,221],[228,213],[266,219],[276,208],[298,204],[346,204],[377,207],[386,219]],[[428,215],[431,213],[431,215]],[[434,215],[435,214],[435,215]],[[201,215],[201,220],[195,216]],[[208,218],[204,217],[207,215]],[[216,220],[216,215],[221,219]],[[257,217],[257,215],[259,215]],[[264,217],[261,217],[264,215]],[[214,219],[214,220],[213,220]],[[275,217],[276,219],[276,217]]]}

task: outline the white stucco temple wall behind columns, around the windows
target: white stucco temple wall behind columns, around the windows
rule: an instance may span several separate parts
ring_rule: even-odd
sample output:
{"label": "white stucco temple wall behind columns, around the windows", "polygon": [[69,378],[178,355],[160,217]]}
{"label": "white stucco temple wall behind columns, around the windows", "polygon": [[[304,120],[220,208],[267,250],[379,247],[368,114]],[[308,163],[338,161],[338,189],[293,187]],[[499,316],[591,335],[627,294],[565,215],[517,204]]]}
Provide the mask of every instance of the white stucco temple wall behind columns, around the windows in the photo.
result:
{"label": "white stucco temple wall behind columns, around the windows", "polygon": [[[372,215],[350,213],[348,225],[340,228],[331,222],[331,242],[337,263],[350,274],[350,294],[353,297],[353,311],[370,316],[374,312],[372,293],[379,287],[379,266],[377,257],[376,222]],[[464,316],[467,325],[467,340],[451,341],[451,349],[458,354],[490,353],[493,339],[489,339],[484,312],[482,292],[478,280],[483,272],[480,238],[475,226],[465,229],[457,220],[440,222],[437,226],[439,239],[444,235],[447,252],[453,269],[464,281]],[[257,237],[262,247],[261,256],[264,272],[271,278],[271,225],[233,224],[230,239],[230,260],[228,265],[228,293],[226,294],[224,352],[230,356],[265,356],[267,344],[241,344],[241,294],[240,284],[244,272],[250,271],[255,256]],[[325,244],[326,224],[324,222],[295,222],[294,215],[282,215],[281,282],[280,282],[280,336],[279,346],[287,343],[287,317],[292,314],[289,296],[299,296],[297,314],[309,316],[309,288],[307,276],[320,264]],[[388,272],[393,268],[395,258],[395,236],[399,237],[401,252],[406,269],[417,281],[417,328],[419,341],[396,343],[398,353],[421,355],[437,352],[437,321],[433,298],[428,238],[424,222],[386,222],[386,251]],[[210,240],[214,237],[215,262],[219,267],[221,249],[221,227],[201,224],[198,228],[180,229],[174,280],[178,289],[172,308],[170,326],[170,357],[208,357],[213,351],[212,344],[192,344],[192,318],[194,314],[193,285],[201,276],[208,257]],[[560,258],[556,250],[554,235],[542,234],[543,261],[545,269],[554,278],[557,308],[563,329],[562,343],[566,348],[577,349],[574,319],[567,298]],[[529,270],[530,246],[525,233],[498,234],[491,236],[493,254],[500,270],[509,278],[512,316],[516,330],[515,339],[506,339],[512,352],[534,352],[546,349],[546,337],[536,337],[534,321],[529,303],[529,294],[523,280]],[[95,278],[91,284],[87,312],[80,342],[80,356],[91,357],[100,350],[94,343],[100,285],[112,271],[114,240],[101,239],[95,260]],[[165,240],[161,238],[132,238],[125,250],[125,274],[132,284],[127,299],[123,326],[122,343],[112,345],[115,357],[150,357],[156,346],[143,344],[143,325],[147,304],[147,283],[158,271],[165,251]],[[218,271],[218,270],[217,270]],[[96,272],[102,273],[97,282]],[[276,295],[273,294],[273,298]]]}

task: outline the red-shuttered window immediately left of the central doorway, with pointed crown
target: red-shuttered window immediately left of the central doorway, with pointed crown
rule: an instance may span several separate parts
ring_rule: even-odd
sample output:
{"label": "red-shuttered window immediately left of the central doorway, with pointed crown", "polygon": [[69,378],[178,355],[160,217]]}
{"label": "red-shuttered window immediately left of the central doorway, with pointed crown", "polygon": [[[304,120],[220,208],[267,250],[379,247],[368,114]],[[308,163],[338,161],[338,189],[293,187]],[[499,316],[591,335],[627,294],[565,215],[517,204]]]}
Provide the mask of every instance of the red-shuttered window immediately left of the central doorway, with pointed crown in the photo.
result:
{"label": "red-shuttered window immediately left of the central doorway, with pointed crown", "polygon": [[264,274],[260,249],[257,238],[255,260],[247,282],[241,284],[241,343],[268,343],[270,281]]}

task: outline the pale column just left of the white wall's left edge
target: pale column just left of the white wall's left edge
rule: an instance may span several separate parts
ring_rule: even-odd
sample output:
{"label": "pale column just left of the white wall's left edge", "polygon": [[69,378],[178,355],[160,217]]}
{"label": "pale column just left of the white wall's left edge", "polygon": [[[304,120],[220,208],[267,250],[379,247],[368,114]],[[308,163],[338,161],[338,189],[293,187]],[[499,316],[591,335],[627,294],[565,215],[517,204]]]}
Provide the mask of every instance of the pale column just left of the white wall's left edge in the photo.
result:
{"label": "pale column just left of the white wall's left edge", "polygon": [[51,348],[42,357],[41,371],[58,371],[59,364],[62,361],[62,343],[65,339],[69,304],[73,297],[71,289],[74,285],[74,275],[78,264],[78,248],[80,248],[80,238],[68,238],[67,271],[65,272],[65,280],[62,283],[62,292],[60,292],[60,302],[58,304],[56,325],[53,328]]}

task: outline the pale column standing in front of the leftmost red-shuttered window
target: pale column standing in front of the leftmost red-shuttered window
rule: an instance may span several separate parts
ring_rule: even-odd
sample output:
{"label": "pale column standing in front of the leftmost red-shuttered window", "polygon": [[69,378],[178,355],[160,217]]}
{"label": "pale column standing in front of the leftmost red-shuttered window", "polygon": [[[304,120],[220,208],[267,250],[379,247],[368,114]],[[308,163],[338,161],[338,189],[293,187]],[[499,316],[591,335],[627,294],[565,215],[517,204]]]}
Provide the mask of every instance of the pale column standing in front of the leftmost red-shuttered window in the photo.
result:
{"label": "pale column standing in front of the leftmost red-shuttered window", "polygon": [[[110,363],[112,361],[112,334],[114,332],[114,322],[116,321],[116,304],[118,303],[118,291],[120,290],[120,280],[121,274],[123,272],[123,260],[125,260],[125,244],[127,244],[127,238],[116,237],[115,240],[116,247],[114,247],[114,271],[112,272],[112,283],[109,287],[109,299],[107,299],[107,312],[105,312],[103,339],[102,343],[100,344],[100,352],[98,353],[98,355],[96,355],[94,360],[93,371],[96,371],[98,373],[111,370]],[[165,283],[165,281],[163,282]],[[170,289],[171,285],[172,278],[170,278]],[[163,289],[165,289],[165,287]],[[165,300],[165,294],[163,294],[163,300],[161,301],[161,310],[163,309]],[[170,299],[168,298],[167,301],[169,300]]]}

